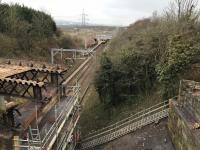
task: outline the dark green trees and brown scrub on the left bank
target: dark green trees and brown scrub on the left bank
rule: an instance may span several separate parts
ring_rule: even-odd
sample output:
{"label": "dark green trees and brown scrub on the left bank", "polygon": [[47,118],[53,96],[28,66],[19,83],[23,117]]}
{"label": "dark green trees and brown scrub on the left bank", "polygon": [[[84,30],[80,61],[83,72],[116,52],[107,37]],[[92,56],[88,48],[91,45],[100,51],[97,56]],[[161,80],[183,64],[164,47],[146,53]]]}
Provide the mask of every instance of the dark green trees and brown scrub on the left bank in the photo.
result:
{"label": "dark green trees and brown scrub on the left bank", "polygon": [[0,57],[48,58],[49,48],[75,47],[77,40],[64,36],[42,11],[0,4]]}

